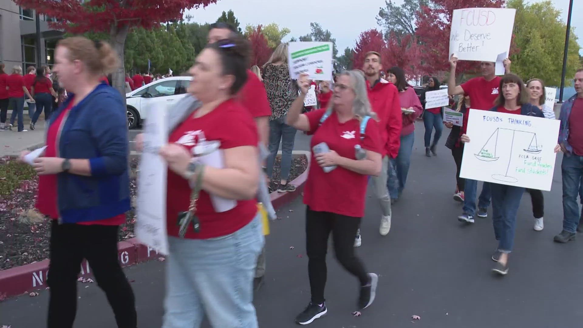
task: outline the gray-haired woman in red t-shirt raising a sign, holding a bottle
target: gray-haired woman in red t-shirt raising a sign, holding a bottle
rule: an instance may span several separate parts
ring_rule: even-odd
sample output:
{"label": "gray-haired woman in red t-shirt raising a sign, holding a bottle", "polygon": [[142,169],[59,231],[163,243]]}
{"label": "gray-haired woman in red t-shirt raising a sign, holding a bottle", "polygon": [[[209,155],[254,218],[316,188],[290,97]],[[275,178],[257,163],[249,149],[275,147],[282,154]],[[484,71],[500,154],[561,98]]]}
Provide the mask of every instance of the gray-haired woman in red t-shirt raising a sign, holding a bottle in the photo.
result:
{"label": "gray-haired woman in red t-shirt raising a sign, holding a bottle", "polygon": [[287,124],[313,135],[313,155],[304,189],[311,301],[296,317],[299,324],[311,323],[327,312],[324,287],[330,233],[336,259],[359,279],[359,309],[373,303],[378,282],[378,275],[367,273],[353,247],[364,216],[367,176],[378,176],[381,171],[382,142],[364,76],[357,71],[343,72],[336,80],[328,108],[301,114],[310,83],[307,74],[300,75],[300,96],[287,113]]}

